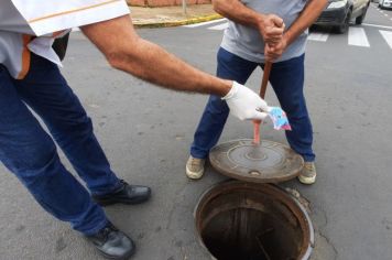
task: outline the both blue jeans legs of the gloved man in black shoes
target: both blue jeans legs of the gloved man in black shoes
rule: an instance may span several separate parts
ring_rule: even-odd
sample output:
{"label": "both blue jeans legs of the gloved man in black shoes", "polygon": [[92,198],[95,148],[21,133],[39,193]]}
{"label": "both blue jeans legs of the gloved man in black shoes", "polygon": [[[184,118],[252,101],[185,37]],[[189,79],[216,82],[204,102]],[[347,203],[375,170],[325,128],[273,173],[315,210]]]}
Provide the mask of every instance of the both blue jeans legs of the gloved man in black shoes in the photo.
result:
{"label": "both blue jeans legs of the gloved man in black shoes", "polygon": [[92,194],[109,193],[120,182],[92,132],[90,118],[57,66],[32,54],[29,74],[15,80],[0,64],[0,161],[56,218],[85,235],[105,227],[104,210],[64,167],[54,141]]}

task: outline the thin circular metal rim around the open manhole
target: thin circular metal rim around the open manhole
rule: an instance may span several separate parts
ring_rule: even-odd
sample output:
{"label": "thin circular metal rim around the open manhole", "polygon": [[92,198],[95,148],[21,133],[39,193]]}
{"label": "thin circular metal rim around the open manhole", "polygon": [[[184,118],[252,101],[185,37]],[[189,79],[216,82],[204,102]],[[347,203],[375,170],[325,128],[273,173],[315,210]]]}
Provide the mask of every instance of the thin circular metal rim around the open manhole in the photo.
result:
{"label": "thin circular metal rim around the open manhole", "polygon": [[304,250],[304,254],[302,256],[301,259],[298,260],[309,260],[311,259],[311,256],[312,256],[312,252],[313,252],[313,249],[315,247],[315,230],[314,230],[314,226],[313,226],[313,223],[312,223],[312,219],[306,210],[306,208],[298,202],[298,199],[292,195],[291,193],[288,193],[286,189],[284,189],[283,187],[274,184],[274,183],[249,183],[249,182],[244,182],[244,181],[241,181],[241,180],[232,180],[232,178],[229,178],[229,180],[224,180],[221,182],[218,182],[218,183],[215,183],[213,185],[210,185],[206,191],[204,191],[198,199],[197,199],[197,203],[196,203],[196,206],[194,207],[194,212],[193,212],[193,216],[194,216],[194,221],[195,221],[195,225],[194,225],[194,229],[195,229],[195,235],[196,235],[196,240],[198,241],[199,246],[202,246],[202,248],[205,250],[205,253],[207,253],[213,260],[218,260],[217,258],[215,258],[210,251],[208,250],[208,248],[206,247],[206,245],[204,243],[203,241],[203,238],[202,238],[202,235],[198,230],[198,225],[197,225],[197,209],[200,205],[200,203],[203,201],[206,201],[206,196],[207,194],[211,193],[215,188],[217,188],[218,186],[221,186],[221,185],[235,185],[235,184],[243,184],[243,185],[270,185],[272,188],[275,188],[277,192],[281,192],[283,196],[286,196],[287,198],[291,198],[291,202],[300,209],[298,212],[303,215],[304,217],[304,221],[307,224],[308,226],[308,245],[307,245],[307,248],[306,250]]}

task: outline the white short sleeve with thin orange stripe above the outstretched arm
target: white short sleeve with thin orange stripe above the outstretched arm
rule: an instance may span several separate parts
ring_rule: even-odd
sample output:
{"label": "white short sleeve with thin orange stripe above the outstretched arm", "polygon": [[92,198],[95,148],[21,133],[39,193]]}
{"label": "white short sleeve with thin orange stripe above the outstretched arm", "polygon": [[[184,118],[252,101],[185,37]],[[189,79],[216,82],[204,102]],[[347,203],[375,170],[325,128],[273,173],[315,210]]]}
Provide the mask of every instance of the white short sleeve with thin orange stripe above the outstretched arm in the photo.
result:
{"label": "white short sleeve with thin orange stripe above the outstretched arm", "polygon": [[129,14],[124,0],[11,0],[35,35]]}

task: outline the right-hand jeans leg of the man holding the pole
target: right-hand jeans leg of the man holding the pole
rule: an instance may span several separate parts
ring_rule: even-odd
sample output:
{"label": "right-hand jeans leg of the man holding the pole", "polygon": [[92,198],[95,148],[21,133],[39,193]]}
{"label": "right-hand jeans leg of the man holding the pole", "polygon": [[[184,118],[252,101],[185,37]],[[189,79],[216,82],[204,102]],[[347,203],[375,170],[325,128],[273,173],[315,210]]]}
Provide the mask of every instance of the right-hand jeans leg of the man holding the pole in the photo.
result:
{"label": "right-hand jeans leg of the man holding the pole", "polygon": [[287,113],[292,131],[286,131],[291,148],[301,154],[305,162],[313,162],[313,130],[304,97],[305,54],[272,65],[270,82],[276,97]]}

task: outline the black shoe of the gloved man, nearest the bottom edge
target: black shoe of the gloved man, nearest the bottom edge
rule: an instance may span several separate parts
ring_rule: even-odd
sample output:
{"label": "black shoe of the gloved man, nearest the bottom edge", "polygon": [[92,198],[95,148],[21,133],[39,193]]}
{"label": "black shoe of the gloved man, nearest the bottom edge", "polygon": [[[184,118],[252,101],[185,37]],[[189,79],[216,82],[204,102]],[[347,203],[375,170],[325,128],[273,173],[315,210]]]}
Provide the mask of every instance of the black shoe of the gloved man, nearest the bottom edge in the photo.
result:
{"label": "black shoe of the gloved man, nearest the bottom edge", "polygon": [[86,238],[108,259],[126,260],[135,251],[132,239],[118,230],[111,223],[96,235],[86,236]]}

